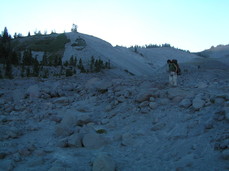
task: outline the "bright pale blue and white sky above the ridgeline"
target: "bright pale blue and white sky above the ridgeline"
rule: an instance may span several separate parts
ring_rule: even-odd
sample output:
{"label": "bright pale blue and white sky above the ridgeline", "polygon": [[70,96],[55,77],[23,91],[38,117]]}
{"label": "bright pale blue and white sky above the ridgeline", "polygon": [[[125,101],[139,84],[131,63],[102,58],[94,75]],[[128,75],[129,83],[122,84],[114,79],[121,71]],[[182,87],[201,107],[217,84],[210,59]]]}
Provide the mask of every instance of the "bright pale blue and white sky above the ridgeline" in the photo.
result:
{"label": "bright pale blue and white sky above the ridgeline", "polygon": [[169,43],[200,52],[229,44],[229,0],[2,0],[0,30],[78,32],[113,46]]}

